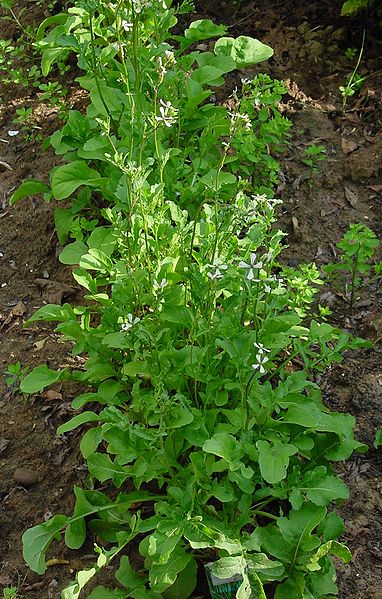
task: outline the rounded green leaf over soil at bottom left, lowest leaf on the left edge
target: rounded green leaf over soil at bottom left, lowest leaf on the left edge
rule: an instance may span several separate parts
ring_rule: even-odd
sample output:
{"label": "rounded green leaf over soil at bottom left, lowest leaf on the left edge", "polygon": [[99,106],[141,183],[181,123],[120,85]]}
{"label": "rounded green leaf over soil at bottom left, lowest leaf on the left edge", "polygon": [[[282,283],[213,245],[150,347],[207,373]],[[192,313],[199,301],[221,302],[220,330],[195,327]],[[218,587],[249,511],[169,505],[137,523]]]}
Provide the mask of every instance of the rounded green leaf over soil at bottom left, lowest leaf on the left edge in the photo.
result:
{"label": "rounded green leaf over soil at bottom left, lowest leaf on the left edge", "polygon": [[44,574],[45,554],[53,539],[60,539],[61,529],[68,523],[67,516],[53,516],[44,524],[28,528],[22,536],[23,557],[29,568],[37,574]]}

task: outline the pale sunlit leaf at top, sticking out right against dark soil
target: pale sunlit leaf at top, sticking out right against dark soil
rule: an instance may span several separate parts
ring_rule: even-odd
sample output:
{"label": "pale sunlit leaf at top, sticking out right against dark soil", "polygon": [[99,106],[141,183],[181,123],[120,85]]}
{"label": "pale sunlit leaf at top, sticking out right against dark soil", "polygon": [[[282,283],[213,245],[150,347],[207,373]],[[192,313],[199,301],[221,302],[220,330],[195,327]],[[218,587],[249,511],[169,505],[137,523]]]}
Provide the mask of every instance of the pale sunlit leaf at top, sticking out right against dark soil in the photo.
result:
{"label": "pale sunlit leaf at top, sticking out right against dark soil", "polygon": [[250,67],[273,56],[270,46],[246,35],[240,35],[236,39],[221,37],[215,43],[214,52],[217,56],[230,56],[238,69]]}

